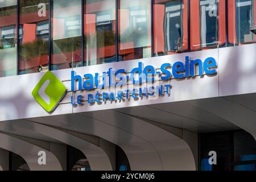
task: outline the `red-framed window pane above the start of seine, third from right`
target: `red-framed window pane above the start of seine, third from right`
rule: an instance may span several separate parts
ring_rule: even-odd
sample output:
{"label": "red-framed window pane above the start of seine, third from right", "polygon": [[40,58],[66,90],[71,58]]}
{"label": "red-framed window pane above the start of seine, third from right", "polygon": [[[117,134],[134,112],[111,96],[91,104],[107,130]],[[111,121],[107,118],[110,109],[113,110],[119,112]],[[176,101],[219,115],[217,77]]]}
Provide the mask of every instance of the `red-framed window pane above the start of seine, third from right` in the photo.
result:
{"label": "red-framed window pane above the start of seine, third from right", "polygon": [[188,50],[188,1],[154,1],[154,56]]}

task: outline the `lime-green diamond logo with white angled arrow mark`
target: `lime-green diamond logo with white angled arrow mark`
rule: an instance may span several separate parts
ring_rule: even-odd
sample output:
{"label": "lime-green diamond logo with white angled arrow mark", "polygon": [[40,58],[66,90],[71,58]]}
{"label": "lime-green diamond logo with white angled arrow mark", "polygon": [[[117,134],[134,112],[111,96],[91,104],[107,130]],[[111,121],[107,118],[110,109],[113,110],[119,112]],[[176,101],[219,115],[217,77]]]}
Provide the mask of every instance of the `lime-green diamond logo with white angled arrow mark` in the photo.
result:
{"label": "lime-green diamond logo with white angled arrow mark", "polygon": [[48,113],[52,113],[66,93],[63,83],[48,71],[35,86],[32,96]]}

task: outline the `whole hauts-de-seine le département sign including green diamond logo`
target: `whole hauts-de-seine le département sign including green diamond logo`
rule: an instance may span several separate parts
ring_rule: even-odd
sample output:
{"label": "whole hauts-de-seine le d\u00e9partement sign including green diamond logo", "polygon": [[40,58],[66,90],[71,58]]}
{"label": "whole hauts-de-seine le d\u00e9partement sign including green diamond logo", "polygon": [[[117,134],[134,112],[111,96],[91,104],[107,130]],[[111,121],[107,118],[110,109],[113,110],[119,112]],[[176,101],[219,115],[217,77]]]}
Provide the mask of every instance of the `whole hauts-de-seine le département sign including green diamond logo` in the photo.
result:
{"label": "whole hauts-de-seine le d\u00e9partement sign including green diamond logo", "polygon": [[[217,62],[213,57],[191,60],[184,57],[184,63],[163,63],[160,68],[138,62],[137,67],[127,71],[125,68],[109,68],[102,73],[77,75],[71,71],[71,104],[81,106],[126,100],[157,99],[171,96],[172,79],[204,75],[216,75]],[[69,90],[70,91],[70,90]],[[35,86],[32,96],[48,112],[52,113],[65,97],[67,89],[52,72],[48,71]]]}

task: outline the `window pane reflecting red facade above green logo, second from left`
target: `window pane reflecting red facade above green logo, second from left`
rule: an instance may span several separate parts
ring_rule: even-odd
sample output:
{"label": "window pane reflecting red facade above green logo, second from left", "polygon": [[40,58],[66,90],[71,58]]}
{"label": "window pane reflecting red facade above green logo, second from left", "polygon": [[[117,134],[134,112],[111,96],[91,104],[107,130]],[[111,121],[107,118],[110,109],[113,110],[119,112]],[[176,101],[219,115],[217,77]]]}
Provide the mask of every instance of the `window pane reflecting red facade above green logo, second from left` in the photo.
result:
{"label": "window pane reflecting red facade above green logo, second from left", "polygon": [[48,70],[49,2],[20,0],[19,74]]}

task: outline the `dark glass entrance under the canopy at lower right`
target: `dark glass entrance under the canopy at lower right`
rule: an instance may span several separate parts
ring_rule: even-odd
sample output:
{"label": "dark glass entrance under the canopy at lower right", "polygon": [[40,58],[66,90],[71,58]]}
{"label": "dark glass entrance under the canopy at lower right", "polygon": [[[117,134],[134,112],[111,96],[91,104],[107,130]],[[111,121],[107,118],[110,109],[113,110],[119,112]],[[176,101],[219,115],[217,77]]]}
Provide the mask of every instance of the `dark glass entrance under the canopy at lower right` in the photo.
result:
{"label": "dark glass entrance under the canopy at lower right", "polygon": [[[256,141],[243,130],[200,134],[201,171],[256,171]],[[216,152],[217,164],[209,163],[210,151]]]}

